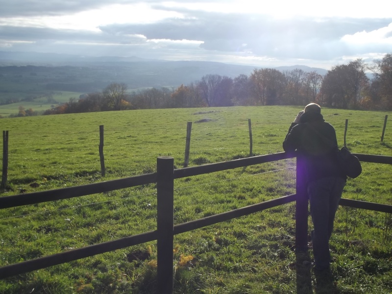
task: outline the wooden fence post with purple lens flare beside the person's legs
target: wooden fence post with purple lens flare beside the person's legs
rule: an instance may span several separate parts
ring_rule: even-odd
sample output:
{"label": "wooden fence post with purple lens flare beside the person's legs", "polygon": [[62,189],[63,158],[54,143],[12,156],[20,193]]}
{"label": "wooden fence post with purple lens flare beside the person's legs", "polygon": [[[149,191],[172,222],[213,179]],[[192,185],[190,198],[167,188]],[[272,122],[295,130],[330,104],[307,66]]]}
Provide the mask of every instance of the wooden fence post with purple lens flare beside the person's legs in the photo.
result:
{"label": "wooden fence post with purple lens flare beside the person's legs", "polygon": [[296,161],[295,248],[297,251],[306,251],[308,248],[308,195],[305,185],[305,166],[298,155]]}

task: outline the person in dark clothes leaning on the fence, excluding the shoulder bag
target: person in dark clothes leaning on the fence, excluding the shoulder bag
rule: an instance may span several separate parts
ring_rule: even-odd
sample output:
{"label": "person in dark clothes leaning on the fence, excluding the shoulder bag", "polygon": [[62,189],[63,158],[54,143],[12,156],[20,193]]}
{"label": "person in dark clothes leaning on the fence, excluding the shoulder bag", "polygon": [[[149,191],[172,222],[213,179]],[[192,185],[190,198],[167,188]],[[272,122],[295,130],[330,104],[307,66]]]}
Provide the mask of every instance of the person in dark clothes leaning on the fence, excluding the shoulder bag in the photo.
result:
{"label": "person in dark clothes leaning on the fence, excluding the shoulder bag", "polygon": [[337,163],[335,129],[324,121],[318,104],[310,103],[298,113],[283,142],[283,149],[287,152],[297,150],[297,160],[301,162],[297,166],[301,169],[310,202],[315,269],[329,270],[329,239],[346,176]]}

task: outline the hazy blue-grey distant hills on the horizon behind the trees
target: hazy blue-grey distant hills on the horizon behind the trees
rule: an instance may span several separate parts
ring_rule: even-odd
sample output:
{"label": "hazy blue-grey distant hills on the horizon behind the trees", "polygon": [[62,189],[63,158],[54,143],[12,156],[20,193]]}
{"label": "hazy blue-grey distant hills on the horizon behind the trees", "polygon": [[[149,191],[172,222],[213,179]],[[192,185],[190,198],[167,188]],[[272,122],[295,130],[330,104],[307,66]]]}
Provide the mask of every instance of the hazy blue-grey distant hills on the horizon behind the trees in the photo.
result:
{"label": "hazy blue-grey distant hills on the horizon behind the trees", "polygon": [[[288,71],[295,68],[320,74],[327,72],[301,65],[276,69]],[[5,100],[42,96],[48,91],[92,93],[101,91],[112,82],[125,83],[130,90],[178,87],[198,81],[206,74],[234,78],[240,74],[250,75],[254,69],[260,68],[208,61],[0,51],[0,92]]]}

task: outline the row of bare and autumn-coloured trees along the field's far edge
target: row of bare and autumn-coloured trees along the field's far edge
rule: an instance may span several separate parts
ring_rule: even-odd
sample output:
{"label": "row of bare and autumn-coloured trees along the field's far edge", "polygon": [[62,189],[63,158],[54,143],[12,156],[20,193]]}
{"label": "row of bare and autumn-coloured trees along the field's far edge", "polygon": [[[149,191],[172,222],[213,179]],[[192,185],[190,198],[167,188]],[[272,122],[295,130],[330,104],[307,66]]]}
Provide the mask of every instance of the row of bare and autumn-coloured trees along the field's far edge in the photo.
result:
{"label": "row of bare and autumn-coloured trees along the field's far edge", "polygon": [[265,68],[235,78],[207,74],[177,88],[151,88],[130,94],[127,90],[124,83],[111,83],[102,92],[78,100],[71,98],[44,114],[309,102],[343,109],[392,110],[392,53],[371,65],[361,58],[336,65],[324,76],[301,69],[281,72]]}

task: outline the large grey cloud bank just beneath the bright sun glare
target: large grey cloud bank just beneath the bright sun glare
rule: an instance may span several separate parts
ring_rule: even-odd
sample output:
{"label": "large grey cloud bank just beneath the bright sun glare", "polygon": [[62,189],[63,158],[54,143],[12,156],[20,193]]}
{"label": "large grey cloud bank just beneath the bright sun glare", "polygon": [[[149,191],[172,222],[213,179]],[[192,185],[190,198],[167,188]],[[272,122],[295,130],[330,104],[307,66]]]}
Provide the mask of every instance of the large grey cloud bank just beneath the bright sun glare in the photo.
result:
{"label": "large grey cloud bank just beneath the bright sun glare", "polygon": [[[181,11],[183,13],[183,11]],[[200,48],[221,52],[273,55],[277,58],[319,58],[341,54],[344,36],[381,29],[391,20],[308,19],[279,20],[260,15],[188,13],[182,19],[152,24],[106,25],[106,34],[139,34],[150,39],[190,40]]]}

